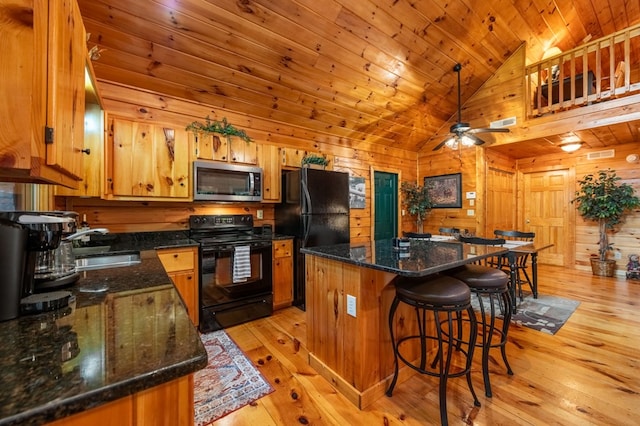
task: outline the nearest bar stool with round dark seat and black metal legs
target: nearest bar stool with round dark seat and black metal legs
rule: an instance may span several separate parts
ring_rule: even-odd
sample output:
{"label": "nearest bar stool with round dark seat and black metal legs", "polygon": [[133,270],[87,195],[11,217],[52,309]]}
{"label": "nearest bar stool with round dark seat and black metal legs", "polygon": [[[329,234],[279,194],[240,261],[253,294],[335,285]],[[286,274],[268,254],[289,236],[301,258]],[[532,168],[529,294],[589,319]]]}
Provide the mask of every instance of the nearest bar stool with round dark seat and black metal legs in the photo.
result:
{"label": "nearest bar stool with round dark seat and black metal legs", "polygon": [[[470,331],[465,333],[464,336],[455,327],[455,323],[461,324],[463,321],[463,312],[467,312],[469,318],[475,319],[475,314],[471,307],[471,292],[469,287],[462,281],[446,275],[430,275],[419,278],[399,276],[395,279],[395,287],[396,295],[389,310],[389,331],[393,345],[395,370],[391,384],[386,392],[387,396],[392,395],[398,380],[400,360],[419,373],[438,377],[440,380],[440,422],[446,425],[448,424],[447,380],[449,378],[466,376],[467,385],[473,396],[473,403],[476,407],[480,406],[480,401],[476,396],[471,381],[471,364],[478,333],[477,324],[475,320],[470,321]],[[394,316],[400,302],[406,303],[415,309],[418,334],[404,336],[396,342],[393,332]],[[434,327],[431,329],[427,327],[428,312],[433,314]],[[442,319],[441,315],[446,319]],[[433,332],[430,330],[433,330]],[[420,342],[420,365],[414,365],[412,362],[415,361],[407,360],[400,351],[400,345],[403,342],[412,340],[419,340]],[[427,364],[428,341],[435,341],[437,344],[436,357],[430,368]],[[452,370],[454,349],[457,349],[461,355],[461,358],[459,358],[461,362],[457,363],[454,370]]]}

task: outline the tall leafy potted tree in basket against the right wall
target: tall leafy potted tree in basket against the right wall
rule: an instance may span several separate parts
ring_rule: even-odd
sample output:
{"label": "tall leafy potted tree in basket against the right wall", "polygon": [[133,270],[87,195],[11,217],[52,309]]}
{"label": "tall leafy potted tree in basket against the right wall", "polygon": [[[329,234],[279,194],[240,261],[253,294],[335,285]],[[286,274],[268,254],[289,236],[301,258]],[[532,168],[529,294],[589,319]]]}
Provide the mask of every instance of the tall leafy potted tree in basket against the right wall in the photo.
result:
{"label": "tall leafy potted tree in basket against the right wall", "polygon": [[616,261],[607,258],[612,250],[608,233],[615,231],[615,226],[623,222],[626,213],[640,207],[640,199],[634,195],[633,187],[620,183],[620,180],[611,169],[588,174],[578,181],[580,189],[571,201],[577,203],[578,213],[584,219],[598,222],[598,256],[591,258],[594,275],[613,276]]}

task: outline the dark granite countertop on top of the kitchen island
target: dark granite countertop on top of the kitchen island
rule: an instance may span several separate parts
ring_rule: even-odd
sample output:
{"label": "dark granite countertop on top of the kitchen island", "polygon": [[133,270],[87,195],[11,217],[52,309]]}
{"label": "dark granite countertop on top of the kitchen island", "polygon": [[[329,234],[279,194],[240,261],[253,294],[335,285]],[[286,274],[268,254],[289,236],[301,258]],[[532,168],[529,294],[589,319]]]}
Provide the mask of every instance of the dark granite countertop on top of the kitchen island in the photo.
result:
{"label": "dark granite countertop on top of the kitchen island", "polygon": [[503,247],[418,239],[411,239],[409,249],[403,251],[395,249],[391,239],[300,249],[307,255],[413,277],[435,274],[507,251]]}

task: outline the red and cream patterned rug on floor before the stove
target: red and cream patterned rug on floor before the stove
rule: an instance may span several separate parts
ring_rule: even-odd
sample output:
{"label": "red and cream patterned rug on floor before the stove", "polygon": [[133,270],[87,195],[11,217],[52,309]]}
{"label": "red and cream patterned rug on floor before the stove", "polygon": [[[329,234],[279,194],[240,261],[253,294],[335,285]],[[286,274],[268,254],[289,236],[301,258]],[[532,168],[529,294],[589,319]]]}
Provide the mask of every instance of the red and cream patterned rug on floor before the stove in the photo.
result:
{"label": "red and cream patterned rug on floor before the stove", "polygon": [[246,355],[224,330],[200,336],[209,356],[195,373],[195,424],[209,423],[273,392]]}

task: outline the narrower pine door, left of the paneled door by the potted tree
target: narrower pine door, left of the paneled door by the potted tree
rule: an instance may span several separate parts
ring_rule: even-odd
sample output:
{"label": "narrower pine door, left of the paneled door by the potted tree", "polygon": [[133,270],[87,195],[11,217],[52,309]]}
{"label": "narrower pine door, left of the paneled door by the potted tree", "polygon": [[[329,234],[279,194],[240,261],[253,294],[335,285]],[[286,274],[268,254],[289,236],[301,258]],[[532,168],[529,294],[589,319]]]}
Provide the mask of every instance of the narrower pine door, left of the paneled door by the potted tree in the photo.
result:
{"label": "narrower pine door, left of the paneled door by the potted tree", "polygon": [[496,229],[516,229],[516,177],[511,171],[490,167],[487,171],[484,236]]}

